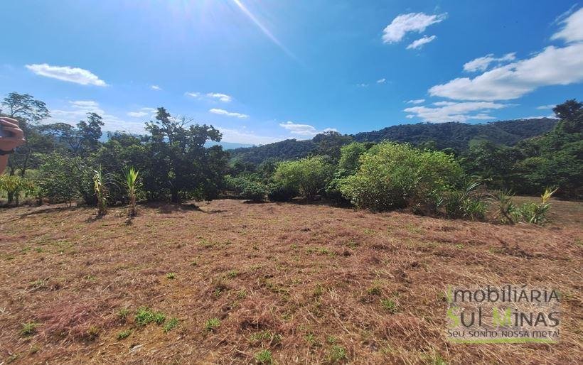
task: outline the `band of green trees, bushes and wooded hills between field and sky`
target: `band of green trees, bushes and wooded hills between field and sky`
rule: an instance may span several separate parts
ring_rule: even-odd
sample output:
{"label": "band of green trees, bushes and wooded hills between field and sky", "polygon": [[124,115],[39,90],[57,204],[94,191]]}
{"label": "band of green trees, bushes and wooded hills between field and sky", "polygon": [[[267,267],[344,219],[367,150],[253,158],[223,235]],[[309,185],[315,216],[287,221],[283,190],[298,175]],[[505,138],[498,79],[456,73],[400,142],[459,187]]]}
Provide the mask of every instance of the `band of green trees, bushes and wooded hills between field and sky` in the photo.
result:
{"label": "band of green trees, bushes and wooded hills between field and sky", "polygon": [[[223,194],[255,202],[326,199],[375,211],[407,207],[473,220],[484,219],[488,207],[494,207],[498,220],[512,223],[544,222],[547,200],[555,192],[577,199],[583,195],[583,105],[575,100],[554,109],[558,122],[417,124],[368,137],[327,132],[311,141],[248,149],[274,148],[276,157],[259,163],[241,160],[241,151],[229,162],[221,146],[208,147],[220,141],[220,131],[173,117],[164,108],[146,122],[144,136],[115,132],[102,143],[103,122],[95,113],[77,126],[41,124],[50,115],[46,105],[16,93],[4,99],[3,107],[5,115],[20,121],[27,138],[0,179],[9,205],[28,195],[39,203],[82,201],[106,214],[108,204],[129,203],[134,215],[137,200],[210,200]],[[417,136],[412,143],[368,141],[406,130]],[[468,146],[440,148],[444,142],[424,139],[423,131]],[[515,145],[491,142],[495,137]],[[290,154],[294,158],[283,160]],[[509,198],[515,192],[545,195],[538,205],[514,207]]]}

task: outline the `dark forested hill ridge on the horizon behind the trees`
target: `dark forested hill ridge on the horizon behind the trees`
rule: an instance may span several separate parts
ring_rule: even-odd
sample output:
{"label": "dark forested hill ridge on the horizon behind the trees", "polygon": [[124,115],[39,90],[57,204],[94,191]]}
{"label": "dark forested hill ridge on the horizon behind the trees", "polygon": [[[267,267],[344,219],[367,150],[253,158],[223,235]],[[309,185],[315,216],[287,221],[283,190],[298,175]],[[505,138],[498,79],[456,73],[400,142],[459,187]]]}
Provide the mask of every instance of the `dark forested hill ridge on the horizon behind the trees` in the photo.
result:
{"label": "dark forested hill ridge on the horizon behind the trees", "polygon": [[[404,143],[419,143],[434,141],[437,148],[454,148],[464,151],[471,143],[491,141],[492,143],[513,146],[519,141],[539,136],[550,131],[558,119],[515,119],[510,121],[494,121],[487,124],[466,123],[419,123],[389,126],[379,131],[361,132],[351,137],[358,142],[397,141]],[[315,137],[316,138],[316,137]],[[317,138],[316,138],[317,141]],[[267,158],[277,160],[292,160],[313,153],[319,144],[314,140],[296,141],[287,139],[263,146],[235,148],[230,150],[233,160],[245,163],[262,163]]]}

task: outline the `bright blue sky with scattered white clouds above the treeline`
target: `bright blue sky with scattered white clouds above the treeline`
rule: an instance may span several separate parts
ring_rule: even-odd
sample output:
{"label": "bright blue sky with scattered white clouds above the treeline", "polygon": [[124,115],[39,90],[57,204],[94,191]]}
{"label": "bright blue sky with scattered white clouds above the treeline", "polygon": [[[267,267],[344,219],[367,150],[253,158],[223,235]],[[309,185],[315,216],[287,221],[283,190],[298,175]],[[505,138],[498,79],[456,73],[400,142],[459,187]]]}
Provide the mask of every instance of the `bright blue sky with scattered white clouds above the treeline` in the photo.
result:
{"label": "bright blue sky with scattered white clouds above the treeline", "polygon": [[143,131],[154,108],[263,144],[549,116],[583,94],[574,1],[6,0],[0,94]]}

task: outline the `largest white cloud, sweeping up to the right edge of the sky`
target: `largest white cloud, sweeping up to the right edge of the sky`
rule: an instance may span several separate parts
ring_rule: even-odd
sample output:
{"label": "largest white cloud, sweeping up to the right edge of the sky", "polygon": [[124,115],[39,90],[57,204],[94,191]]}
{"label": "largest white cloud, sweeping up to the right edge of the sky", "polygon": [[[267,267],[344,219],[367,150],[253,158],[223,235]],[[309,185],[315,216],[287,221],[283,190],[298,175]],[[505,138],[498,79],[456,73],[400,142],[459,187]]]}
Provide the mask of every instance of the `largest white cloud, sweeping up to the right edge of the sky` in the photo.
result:
{"label": "largest white cloud, sweeping up to the right edge of the sky", "polygon": [[429,89],[429,94],[455,100],[510,100],[538,87],[583,82],[583,9],[560,21],[552,38],[564,47],[548,46],[530,58],[498,66],[474,77],[459,77]]}

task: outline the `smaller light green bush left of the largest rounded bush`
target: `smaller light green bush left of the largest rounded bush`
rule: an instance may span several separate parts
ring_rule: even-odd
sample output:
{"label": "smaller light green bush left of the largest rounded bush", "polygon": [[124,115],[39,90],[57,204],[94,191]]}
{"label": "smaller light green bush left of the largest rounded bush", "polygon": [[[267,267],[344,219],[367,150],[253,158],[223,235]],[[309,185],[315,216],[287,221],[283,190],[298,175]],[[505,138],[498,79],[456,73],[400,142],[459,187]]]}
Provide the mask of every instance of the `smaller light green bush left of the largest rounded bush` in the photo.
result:
{"label": "smaller light green bush left of the largest rounded bush", "polygon": [[298,190],[311,200],[324,190],[333,170],[322,156],[307,157],[277,165],[273,180]]}

